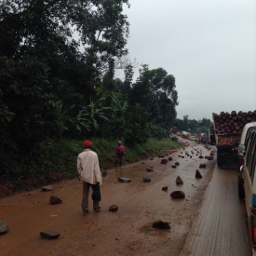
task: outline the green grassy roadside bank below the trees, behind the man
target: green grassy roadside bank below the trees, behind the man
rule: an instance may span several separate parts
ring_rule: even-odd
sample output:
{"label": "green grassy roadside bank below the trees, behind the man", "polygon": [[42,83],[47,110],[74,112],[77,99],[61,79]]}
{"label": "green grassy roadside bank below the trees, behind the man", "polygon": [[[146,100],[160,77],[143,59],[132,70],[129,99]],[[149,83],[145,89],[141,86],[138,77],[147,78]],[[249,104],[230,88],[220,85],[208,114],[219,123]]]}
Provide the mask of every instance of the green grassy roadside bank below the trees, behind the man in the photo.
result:
{"label": "green grassy roadside bank below the trees, behind the man", "polygon": [[[91,149],[99,155],[101,171],[113,168],[117,141],[97,138],[90,140],[93,142]],[[128,164],[166,153],[169,149],[180,147],[181,144],[167,138],[161,141],[150,139],[133,147],[128,147],[126,144],[124,146],[126,148],[124,164]],[[13,191],[27,191],[50,182],[77,177],[76,159],[83,150],[83,141],[61,140],[42,143],[34,157],[22,156],[19,161],[10,163],[11,168],[7,175],[2,177],[5,178],[2,185],[6,186],[8,183]]]}

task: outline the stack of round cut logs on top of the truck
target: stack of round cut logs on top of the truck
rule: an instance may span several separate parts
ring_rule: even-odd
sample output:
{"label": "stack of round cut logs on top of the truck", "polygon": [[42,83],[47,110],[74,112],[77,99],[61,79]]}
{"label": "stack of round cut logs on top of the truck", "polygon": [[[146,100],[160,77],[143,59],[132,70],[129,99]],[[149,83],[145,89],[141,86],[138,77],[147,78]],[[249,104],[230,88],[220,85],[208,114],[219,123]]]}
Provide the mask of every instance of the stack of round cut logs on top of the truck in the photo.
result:
{"label": "stack of round cut logs on top of the truck", "polygon": [[212,114],[215,130],[218,133],[241,133],[244,126],[250,122],[256,122],[256,110],[251,112],[232,111],[231,113],[222,112],[220,115]]}

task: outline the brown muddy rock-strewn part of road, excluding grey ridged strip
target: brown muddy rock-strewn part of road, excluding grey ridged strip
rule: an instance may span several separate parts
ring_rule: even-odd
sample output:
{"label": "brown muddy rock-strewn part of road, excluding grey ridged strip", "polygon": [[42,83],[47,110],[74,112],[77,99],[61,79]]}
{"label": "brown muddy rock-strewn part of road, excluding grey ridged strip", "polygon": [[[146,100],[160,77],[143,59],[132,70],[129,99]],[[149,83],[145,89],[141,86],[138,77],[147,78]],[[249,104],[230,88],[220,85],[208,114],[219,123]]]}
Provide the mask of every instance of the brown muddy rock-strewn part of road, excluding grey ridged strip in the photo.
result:
{"label": "brown muddy rock-strewn part of road, excluding grey ridged strip", "polygon": [[[166,155],[166,158],[173,158],[166,165],[161,165],[162,158],[155,156],[154,160],[108,170],[101,185],[101,212],[93,212],[89,200],[90,213],[87,216],[82,214],[80,207],[82,182],[75,179],[51,184],[53,191],[50,192],[38,189],[1,199],[0,221],[7,222],[9,232],[0,236],[0,254],[179,255],[203,205],[216,164],[215,160],[200,159],[196,153],[200,149],[202,155],[209,155],[210,150],[201,144],[186,147],[192,158],[184,156],[181,149]],[[176,161],[180,166],[172,168]],[[207,167],[199,168],[201,163]],[[147,167],[153,167],[155,171],[147,172]],[[195,169],[200,170],[203,179],[195,179]],[[178,175],[183,185],[175,183]],[[119,177],[126,177],[131,182],[118,182]],[[142,177],[149,177],[152,182],[143,182]],[[168,192],[162,191],[163,186],[168,186]],[[171,199],[169,194],[175,190],[182,190],[186,198]],[[62,203],[50,205],[50,195],[60,197]],[[111,205],[118,205],[118,211],[110,212]],[[171,229],[154,229],[152,222],[157,220],[169,222]],[[61,236],[43,239],[39,234],[44,230],[55,230]],[[184,255],[203,255],[187,254],[190,251],[186,247]]]}

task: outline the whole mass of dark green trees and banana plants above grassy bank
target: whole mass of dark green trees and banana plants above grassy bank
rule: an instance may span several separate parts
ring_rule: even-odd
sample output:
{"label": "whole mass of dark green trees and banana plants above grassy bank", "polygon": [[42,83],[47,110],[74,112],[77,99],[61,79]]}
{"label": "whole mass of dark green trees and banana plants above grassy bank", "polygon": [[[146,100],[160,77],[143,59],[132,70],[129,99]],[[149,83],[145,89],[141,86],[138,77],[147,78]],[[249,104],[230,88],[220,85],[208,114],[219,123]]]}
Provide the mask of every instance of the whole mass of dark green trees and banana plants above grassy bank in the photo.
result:
{"label": "whole mass of dark green trees and banana plants above grassy bank", "polygon": [[[31,165],[42,142],[85,137],[134,145],[168,136],[175,78],[125,62],[128,0],[0,0],[0,174]],[[126,60],[126,59],[125,59]]]}

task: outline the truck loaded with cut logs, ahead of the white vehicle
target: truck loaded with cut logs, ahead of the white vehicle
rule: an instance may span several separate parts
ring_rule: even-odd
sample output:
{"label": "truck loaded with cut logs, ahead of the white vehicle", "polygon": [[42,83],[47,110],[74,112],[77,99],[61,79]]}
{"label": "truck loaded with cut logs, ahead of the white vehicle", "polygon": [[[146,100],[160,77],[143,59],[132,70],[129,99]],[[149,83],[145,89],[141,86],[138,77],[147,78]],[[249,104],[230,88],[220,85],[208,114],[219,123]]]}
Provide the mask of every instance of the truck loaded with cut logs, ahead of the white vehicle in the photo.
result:
{"label": "truck loaded with cut logs, ahead of the white vehicle", "polygon": [[222,112],[220,115],[212,113],[213,130],[217,148],[217,165],[222,167],[226,163],[237,160],[238,144],[242,129],[249,122],[255,122],[256,111]]}

